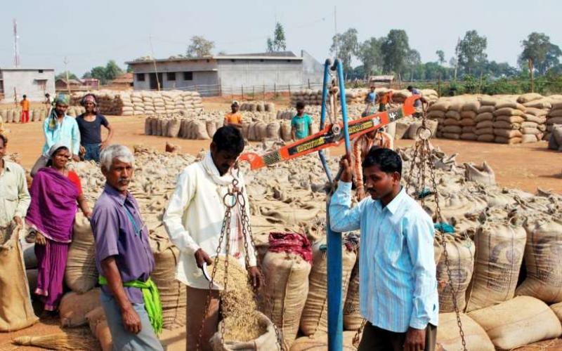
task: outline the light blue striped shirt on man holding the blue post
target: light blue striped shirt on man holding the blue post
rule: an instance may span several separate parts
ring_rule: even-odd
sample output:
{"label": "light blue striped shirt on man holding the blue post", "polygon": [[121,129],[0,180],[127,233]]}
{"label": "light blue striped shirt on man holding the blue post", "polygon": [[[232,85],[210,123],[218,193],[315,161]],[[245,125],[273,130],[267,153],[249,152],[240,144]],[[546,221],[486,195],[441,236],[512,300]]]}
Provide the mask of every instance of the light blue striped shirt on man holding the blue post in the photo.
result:
{"label": "light blue striped shirt on man holding the blue post", "polygon": [[329,206],[332,230],[360,229],[361,314],[374,326],[403,333],[438,324],[435,230],[404,189],[383,207],[363,199],[351,208],[351,183],[339,182]]}

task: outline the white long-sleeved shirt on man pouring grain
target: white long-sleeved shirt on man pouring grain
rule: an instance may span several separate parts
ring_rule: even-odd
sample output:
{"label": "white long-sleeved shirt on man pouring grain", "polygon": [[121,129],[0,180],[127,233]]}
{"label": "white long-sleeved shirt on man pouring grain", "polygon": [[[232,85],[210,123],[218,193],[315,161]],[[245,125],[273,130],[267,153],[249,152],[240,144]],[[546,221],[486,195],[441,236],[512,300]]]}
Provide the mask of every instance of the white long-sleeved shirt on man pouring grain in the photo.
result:
{"label": "white long-sleeved shirt on man pouring grain", "polygon": [[[207,157],[210,156],[207,155]],[[221,177],[214,164],[209,171],[215,177],[227,177],[227,175]],[[249,216],[249,201],[241,173],[238,180]],[[195,262],[195,251],[203,249],[209,256],[216,255],[226,211],[223,197],[227,192],[227,185],[217,184],[213,176],[207,173],[202,162],[196,162],[185,167],[178,176],[176,190],[171,195],[166,213],[164,213],[162,222],[164,222],[171,241],[180,250],[176,279],[192,288],[209,289],[209,282]],[[233,220],[236,218],[235,213],[232,218]],[[240,234],[238,235],[238,248],[233,247],[231,240],[230,254],[240,252],[238,262],[244,267],[244,238],[240,237]],[[231,232],[231,236],[235,237],[235,231]],[[249,264],[255,266],[256,257],[251,245],[248,246],[248,251]],[[226,253],[224,242],[221,253]]]}

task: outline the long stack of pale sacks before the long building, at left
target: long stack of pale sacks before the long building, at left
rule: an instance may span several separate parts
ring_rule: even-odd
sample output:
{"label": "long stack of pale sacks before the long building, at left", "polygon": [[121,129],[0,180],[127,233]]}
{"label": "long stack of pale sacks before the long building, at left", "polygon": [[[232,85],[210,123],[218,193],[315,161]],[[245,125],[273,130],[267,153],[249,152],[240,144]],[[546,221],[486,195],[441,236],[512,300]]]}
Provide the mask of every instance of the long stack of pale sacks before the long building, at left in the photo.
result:
{"label": "long stack of pale sacks before the long building, at left", "polygon": [[201,95],[195,91],[89,91],[73,93],[71,105],[80,105],[86,93],[96,95],[102,114],[132,116],[136,114],[172,114],[203,111]]}

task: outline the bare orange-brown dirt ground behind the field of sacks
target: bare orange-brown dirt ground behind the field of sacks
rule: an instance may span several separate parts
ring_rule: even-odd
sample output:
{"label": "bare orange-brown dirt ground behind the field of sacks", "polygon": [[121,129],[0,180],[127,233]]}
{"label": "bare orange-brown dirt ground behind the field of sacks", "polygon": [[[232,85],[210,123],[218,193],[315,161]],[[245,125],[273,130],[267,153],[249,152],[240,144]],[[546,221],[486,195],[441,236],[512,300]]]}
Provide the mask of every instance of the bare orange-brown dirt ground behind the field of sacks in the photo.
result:
{"label": "bare orange-brown dirt ground behind the field of sacks", "polygon": [[[224,102],[211,102],[209,107],[224,110]],[[206,105],[207,107],[207,105]],[[209,110],[211,109],[209,108]],[[108,117],[115,127],[113,143],[126,146],[144,145],[164,151],[166,142],[181,147],[181,152],[197,154],[209,147],[209,140],[185,140],[165,138],[144,134],[143,117]],[[8,152],[17,152],[21,163],[31,168],[41,153],[44,137],[41,123],[6,124],[11,131],[7,134]],[[397,140],[397,147],[412,145],[413,140]],[[497,183],[504,187],[516,187],[528,192],[535,192],[537,187],[562,194],[562,153],[547,149],[547,143],[525,145],[499,145],[493,143],[476,143],[457,140],[432,140],[447,154],[458,154],[457,163],[473,162],[482,164],[487,161],[496,173]],[[331,154],[342,154],[343,147],[332,150]]]}

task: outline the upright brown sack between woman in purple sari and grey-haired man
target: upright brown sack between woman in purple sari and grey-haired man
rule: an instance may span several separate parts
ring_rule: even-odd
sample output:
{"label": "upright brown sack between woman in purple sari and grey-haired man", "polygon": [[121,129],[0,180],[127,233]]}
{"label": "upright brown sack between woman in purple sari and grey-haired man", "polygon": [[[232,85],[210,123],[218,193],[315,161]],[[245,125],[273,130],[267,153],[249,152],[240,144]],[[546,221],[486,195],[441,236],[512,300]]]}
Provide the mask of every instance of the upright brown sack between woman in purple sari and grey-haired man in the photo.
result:
{"label": "upright brown sack between woman in purple sari and grey-haired man", "polygon": [[96,270],[96,244],[88,218],[76,214],[72,230],[72,242],[68,249],[65,284],[77,293],[91,290],[98,282]]}

